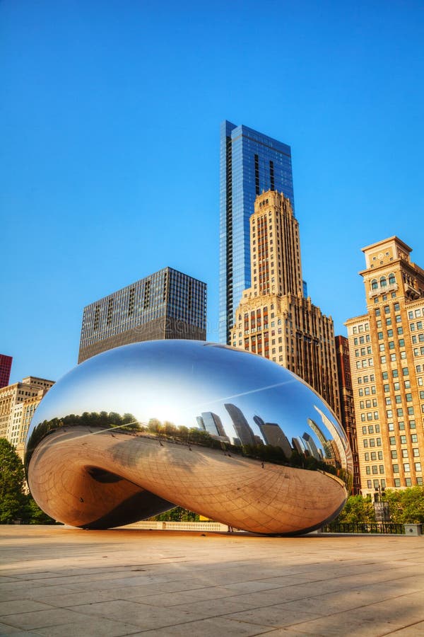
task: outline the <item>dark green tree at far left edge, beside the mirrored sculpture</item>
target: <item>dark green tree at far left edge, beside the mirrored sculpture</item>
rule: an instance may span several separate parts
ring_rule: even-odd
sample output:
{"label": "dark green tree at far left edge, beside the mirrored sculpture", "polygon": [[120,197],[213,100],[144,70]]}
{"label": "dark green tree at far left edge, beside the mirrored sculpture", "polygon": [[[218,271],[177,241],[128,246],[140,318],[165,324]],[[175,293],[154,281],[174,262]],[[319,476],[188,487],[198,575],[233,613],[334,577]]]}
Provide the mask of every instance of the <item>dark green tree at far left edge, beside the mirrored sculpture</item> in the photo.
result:
{"label": "dark green tree at far left edge, beside the mirrored sculpture", "polygon": [[13,445],[0,438],[0,524],[22,517],[25,507],[23,464]]}

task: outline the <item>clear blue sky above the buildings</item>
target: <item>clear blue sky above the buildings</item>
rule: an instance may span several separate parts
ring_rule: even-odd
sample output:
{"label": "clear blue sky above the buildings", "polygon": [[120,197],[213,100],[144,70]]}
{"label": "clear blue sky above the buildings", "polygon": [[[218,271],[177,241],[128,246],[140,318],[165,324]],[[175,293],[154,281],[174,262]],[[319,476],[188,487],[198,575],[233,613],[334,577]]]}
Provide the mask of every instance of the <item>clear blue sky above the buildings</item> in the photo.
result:
{"label": "clear blue sky above the buildings", "polygon": [[170,265],[218,339],[219,125],[290,144],[303,275],[343,322],[360,248],[424,267],[420,1],[0,2],[0,352],[76,365],[83,307]]}

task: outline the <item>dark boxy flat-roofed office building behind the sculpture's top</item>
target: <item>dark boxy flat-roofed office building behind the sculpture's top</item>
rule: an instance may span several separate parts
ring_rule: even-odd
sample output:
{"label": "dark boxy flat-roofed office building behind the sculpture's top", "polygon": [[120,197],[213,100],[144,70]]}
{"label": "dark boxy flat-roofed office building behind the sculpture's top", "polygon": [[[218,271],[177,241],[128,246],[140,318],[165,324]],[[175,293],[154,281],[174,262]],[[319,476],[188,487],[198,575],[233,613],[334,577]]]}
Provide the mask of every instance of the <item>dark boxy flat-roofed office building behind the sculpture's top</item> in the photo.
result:
{"label": "dark boxy flat-roofed office building behind the sculpture's top", "polygon": [[206,340],[206,283],[163,268],[86,306],[78,363],[142,340]]}

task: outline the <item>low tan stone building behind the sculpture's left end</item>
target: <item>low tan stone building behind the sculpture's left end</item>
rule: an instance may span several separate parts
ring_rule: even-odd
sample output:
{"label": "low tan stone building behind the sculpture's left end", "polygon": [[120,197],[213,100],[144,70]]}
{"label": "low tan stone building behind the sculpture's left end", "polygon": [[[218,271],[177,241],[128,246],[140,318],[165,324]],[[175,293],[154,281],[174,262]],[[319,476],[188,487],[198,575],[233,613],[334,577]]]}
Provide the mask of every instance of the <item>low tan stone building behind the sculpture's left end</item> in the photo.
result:
{"label": "low tan stone building behind the sculpture's left end", "polygon": [[54,381],[28,376],[0,389],[0,438],[6,438],[23,458],[25,438],[35,409]]}

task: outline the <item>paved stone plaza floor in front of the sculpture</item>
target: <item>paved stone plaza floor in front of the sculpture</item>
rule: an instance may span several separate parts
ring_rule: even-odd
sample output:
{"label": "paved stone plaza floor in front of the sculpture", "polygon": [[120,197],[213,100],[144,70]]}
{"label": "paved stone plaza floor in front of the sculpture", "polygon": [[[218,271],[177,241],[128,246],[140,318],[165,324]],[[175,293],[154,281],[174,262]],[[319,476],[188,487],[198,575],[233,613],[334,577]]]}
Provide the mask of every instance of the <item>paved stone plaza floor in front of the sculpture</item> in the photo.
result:
{"label": "paved stone plaza floor in front of the sculpture", "polygon": [[0,635],[424,635],[424,536],[0,526]]}

